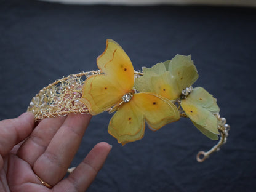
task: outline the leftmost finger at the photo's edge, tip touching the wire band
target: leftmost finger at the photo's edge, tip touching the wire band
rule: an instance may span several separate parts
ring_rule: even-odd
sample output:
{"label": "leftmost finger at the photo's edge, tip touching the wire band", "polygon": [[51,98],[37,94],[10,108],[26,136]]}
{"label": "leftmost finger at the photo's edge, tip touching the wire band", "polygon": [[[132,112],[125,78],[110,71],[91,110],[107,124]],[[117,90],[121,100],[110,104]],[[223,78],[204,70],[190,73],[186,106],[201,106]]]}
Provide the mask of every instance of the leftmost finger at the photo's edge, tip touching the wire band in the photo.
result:
{"label": "leftmost finger at the photo's edge, tip touching the wire band", "polygon": [[2,156],[17,143],[24,140],[31,134],[34,128],[34,115],[32,113],[23,113],[18,118],[6,119],[0,122],[0,168],[2,168]]}

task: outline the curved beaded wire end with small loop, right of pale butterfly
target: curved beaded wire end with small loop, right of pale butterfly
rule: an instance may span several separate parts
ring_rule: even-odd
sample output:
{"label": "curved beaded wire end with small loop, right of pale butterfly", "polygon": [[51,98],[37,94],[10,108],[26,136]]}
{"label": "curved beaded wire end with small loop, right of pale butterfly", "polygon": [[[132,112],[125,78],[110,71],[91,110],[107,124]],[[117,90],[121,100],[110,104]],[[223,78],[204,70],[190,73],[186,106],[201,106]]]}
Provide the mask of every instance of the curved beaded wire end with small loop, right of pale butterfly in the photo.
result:
{"label": "curved beaded wire end with small loop, right of pale butterfly", "polygon": [[196,160],[198,162],[204,162],[210,156],[210,154],[220,150],[220,146],[225,144],[226,140],[228,139],[228,132],[230,130],[230,126],[226,124],[225,118],[220,117],[220,114],[216,114],[216,117],[218,119],[218,130],[220,131],[220,140],[209,151],[199,151],[198,154],[196,155]]}

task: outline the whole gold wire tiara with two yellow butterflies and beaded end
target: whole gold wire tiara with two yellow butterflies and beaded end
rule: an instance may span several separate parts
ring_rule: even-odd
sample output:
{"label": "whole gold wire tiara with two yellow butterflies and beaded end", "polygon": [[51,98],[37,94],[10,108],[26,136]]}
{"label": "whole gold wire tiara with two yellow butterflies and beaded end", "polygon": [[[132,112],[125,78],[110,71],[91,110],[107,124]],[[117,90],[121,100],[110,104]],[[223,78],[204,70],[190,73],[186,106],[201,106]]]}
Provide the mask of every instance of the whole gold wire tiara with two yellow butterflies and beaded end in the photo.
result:
{"label": "whole gold wire tiara with two yellow butterflies and beaded end", "polygon": [[191,55],[175,55],[135,71],[122,47],[108,39],[97,66],[99,70],[70,74],[44,87],[32,98],[28,111],[36,121],[70,113],[115,112],[108,132],[122,145],[140,140],[145,123],[156,131],[189,118],[206,137],[219,140],[209,151],[198,152],[198,162],[226,143],[230,126],[220,116],[217,100],[204,88],[192,86],[198,71]]}

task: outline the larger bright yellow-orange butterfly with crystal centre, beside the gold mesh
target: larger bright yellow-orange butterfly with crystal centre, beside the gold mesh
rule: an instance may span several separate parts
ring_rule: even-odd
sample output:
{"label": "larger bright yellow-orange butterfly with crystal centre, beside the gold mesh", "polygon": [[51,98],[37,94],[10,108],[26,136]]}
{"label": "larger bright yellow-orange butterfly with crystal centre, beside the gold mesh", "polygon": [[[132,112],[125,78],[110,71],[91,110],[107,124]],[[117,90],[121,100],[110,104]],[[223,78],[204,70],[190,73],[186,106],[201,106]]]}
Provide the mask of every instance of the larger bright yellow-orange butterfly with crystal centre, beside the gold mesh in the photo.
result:
{"label": "larger bright yellow-orange butterfly with crystal centre, beside the gold mesh", "polygon": [[170,100],[152,92],[135,92],[132,62],[115,41],[106,41],[97,65],[102,74],[86,79],[81,102],[92,115],[116,111],[108,132],[122,145],[143,137],[145,121],[152,130],[158,130],[180,118],[178,108]]}

